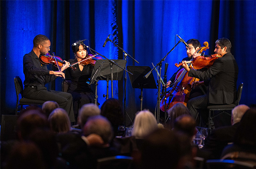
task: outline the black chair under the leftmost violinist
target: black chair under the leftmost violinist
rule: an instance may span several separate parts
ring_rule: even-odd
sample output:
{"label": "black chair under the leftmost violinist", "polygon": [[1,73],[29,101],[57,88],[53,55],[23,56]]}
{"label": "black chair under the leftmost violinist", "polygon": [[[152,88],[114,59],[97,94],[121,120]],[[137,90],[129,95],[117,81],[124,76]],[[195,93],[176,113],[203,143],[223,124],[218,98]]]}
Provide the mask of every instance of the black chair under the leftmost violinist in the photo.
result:
{"label": "black chair under the leftmost violinist", "polygon": [[[18,113],[18,106],[20,106],[20,110],[22,110],[23,105],[43,105],[44,100],[35,100],[35,99],[27,99],[23,97],[23,83],[19,76],[14,77],[14,85],[16,90],[17,102],[16,102],[16,109],[15,115]],[[21,98],[19,97],[21,95]]]}

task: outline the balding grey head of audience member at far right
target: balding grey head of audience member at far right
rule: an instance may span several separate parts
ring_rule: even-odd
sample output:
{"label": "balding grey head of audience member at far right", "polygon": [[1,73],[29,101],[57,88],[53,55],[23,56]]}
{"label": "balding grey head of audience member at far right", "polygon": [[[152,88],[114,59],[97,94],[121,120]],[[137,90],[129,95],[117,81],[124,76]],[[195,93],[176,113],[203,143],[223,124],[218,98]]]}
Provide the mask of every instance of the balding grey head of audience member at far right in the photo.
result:
{"label": "balding grey head of audience member at far right", "polygon": [[244,104],[240,104],[240,105],[236,106],[232,110],[232,118],[231,118],[232,125],[239,122],[241,120],[241,118],[243,117],[244,113],[248,109],[250,109],[249,106],[244,105]]}

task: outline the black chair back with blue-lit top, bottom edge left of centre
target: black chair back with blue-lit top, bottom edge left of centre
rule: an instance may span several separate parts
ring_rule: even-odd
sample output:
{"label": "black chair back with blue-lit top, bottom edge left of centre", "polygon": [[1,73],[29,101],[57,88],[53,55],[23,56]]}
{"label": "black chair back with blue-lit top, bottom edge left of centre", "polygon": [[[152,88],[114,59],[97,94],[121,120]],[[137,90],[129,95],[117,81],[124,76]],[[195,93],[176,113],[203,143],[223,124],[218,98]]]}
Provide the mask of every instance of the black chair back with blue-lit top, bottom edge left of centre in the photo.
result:
{"label": "black chair back with blue-lit top, bottom edge left of centre", "polygon": [[134,169],[132,157],[117,155],[97,160],[97,169]]}

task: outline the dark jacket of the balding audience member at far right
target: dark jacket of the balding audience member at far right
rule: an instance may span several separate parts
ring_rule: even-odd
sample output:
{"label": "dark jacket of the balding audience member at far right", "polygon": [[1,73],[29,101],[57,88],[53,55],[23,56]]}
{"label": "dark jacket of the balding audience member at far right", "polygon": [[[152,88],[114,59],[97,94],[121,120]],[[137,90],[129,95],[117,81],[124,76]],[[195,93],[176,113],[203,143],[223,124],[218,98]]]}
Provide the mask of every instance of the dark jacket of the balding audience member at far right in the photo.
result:
{"label": "dark jacket of the balding audience member at far right", "polygon": [[211,152],[213,158],[219,159],[227,143],[233,142],[238,126],[239,123],[235,123],[233,126],[224,126],[214,129],[211,135],[207,137],[203,149]]}

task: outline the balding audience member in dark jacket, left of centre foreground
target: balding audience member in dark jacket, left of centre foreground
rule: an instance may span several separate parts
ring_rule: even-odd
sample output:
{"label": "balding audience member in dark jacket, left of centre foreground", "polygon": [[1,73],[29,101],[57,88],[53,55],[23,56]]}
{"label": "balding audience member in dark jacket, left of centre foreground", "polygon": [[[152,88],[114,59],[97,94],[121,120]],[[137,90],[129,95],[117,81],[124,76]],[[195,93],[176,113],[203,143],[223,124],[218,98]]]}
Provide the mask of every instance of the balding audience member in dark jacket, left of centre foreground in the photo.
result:
{"label": "balding audience member in dark jacket, left of centre foreground", "polygon": [[[110,146],[113,130],[107,118],[101,115],[89,117],[82,132],[84,135],[74,139],[62,151],[63,158],[72,168],[94,169],[98,158],[118,155],[116,149]],[[102,138],[102,142],[97,137],[91,139],[91,136]]]}

